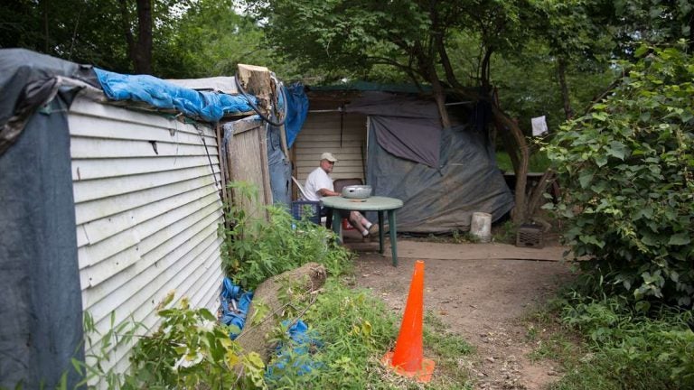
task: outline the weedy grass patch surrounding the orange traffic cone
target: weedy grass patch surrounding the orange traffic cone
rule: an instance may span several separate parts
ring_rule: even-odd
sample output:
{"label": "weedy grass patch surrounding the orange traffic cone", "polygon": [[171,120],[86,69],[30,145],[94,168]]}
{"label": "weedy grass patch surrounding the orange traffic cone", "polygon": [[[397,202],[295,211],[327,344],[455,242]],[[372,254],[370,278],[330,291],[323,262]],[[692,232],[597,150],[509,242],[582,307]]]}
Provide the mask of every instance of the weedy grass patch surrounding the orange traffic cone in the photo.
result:
{"label": "weedy grass patch surrounding the orange traffic cone", "polygon": [[306,357],[290,354],[294,360],[274,371],[276,376],[268,381],[270,388],[472,389],[464,357],[473,348],[448,332],[431,313],[425,318],[423,336],[425,357],[435,360],[436,369],[427,385],[397,376],[380,363],[394,346],[399,323],[371,292],[350,289],[342,279],[331,278],[314,305],[305,311],[304,319],[323,344],[310,357],[319,368],[299,375],[300,359]]}

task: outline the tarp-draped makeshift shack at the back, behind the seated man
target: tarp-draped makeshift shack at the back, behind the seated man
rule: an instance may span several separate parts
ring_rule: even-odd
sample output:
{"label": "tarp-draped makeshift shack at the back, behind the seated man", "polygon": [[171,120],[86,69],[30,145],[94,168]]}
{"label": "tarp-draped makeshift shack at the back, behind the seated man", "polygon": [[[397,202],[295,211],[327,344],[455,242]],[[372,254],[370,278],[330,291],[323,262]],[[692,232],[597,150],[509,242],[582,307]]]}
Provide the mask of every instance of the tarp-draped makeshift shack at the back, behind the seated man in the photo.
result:
{"label": "tarp-draped makeshift shack at the back, behind the seated man", "polygon": [[309,114],[292,148],[299,181],[320,153],[334,153],[340,161],[333,180],[359,178],[374,195],[403,200],[399,232],[468,230],[474,212],[495,221],[512,209],[483,105],[451,102],[454,125],[445,129],[433,101],[411,88],[358,87],[309,92]]}

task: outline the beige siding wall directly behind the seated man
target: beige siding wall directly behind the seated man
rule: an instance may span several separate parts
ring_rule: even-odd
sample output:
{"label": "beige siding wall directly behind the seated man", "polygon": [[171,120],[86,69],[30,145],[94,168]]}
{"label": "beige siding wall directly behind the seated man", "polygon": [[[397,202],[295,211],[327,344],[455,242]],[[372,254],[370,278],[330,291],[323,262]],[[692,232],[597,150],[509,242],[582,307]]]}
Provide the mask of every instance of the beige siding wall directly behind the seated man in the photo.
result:
{"label": "beige siding wall directly behind the seated man", "polygon": [[339,160],[331,173],[333,180],[361,178],[364,181],[366,116],[339,112],[309,113],[293,148],[295,176],[302,184],[318,166],[324,152],[333,153]]}

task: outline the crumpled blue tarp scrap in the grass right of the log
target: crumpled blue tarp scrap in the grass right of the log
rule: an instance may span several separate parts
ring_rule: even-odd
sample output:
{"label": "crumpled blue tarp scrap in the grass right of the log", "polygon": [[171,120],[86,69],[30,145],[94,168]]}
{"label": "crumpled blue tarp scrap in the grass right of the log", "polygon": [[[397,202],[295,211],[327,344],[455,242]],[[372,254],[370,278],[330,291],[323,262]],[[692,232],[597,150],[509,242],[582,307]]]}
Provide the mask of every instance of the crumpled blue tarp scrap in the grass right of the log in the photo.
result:
{"label": "crumpled blue tarp scrap in the grass right of the log", "polygon": [[[282,322],[283,326],[287,326],[288,324],[289,320],[284,320]],[[303,320],[297,320],[287,331],[289,332],[289,338],[294,341],[294,348],[287,349],[282,345],[277,346],[277,359],[275,359],[272,365],[267,366],[265,371],[267,379],[278,379],[282,376],[281,373],[286,365],[290,363],[292,367],[297,369],[296,375],[299,376],[308,374],[314,369],[324,367],[322,362],[311,360],[310,351],[312,346],[315,348],[322,348],[323,342],[318,339],[315,332],[309,332],[308,326],[306,326]],[[293,355],[293,357],[291,355]],[[292,359],[292,361],[290,361],[290,359]],[[276,372],[277,370],[279,373]]]}

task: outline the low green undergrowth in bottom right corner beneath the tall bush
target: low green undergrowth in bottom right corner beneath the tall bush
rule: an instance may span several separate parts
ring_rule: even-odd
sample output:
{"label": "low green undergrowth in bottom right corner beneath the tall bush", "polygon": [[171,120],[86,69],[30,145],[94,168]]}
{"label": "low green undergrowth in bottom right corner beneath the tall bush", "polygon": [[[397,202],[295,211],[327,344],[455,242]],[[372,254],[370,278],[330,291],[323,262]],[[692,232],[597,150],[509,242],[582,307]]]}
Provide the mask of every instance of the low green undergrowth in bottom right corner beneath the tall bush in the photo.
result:
{"label": "low green undergrowth in bottom right corner beneath the tall bush", "polygon": [[574,294],[563,301],[559,316],[585,336],[589,353],[552,388],[692,388],[692,314],[663,310],[649,318],[629,309],[624,298]]}

